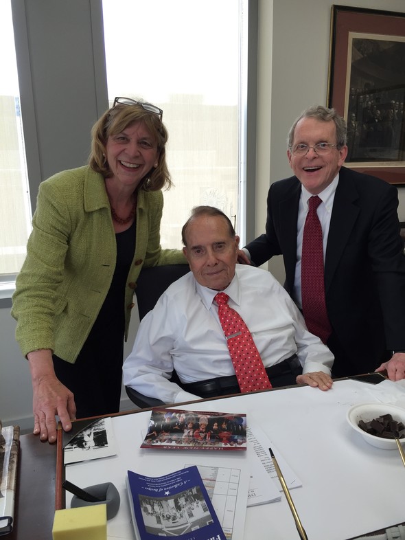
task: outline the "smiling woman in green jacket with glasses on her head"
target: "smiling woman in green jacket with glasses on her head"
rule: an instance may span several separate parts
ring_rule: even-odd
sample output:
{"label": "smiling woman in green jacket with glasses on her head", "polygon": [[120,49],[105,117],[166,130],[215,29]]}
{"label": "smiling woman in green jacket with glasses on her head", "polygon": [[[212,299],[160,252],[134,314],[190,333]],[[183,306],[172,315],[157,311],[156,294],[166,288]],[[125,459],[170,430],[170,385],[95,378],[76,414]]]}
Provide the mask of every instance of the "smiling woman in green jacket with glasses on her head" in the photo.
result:
{"label": "smiling woman in green jacket with glasses on her head", "polygon": [[12,315],[34,392],[34,434],[56,440],[56,418],[119,410],[124,335],[143,265],[185,262],[161,249],[170,188],[163,111],[115,98],[93,126],[89,166],[40,184]]}

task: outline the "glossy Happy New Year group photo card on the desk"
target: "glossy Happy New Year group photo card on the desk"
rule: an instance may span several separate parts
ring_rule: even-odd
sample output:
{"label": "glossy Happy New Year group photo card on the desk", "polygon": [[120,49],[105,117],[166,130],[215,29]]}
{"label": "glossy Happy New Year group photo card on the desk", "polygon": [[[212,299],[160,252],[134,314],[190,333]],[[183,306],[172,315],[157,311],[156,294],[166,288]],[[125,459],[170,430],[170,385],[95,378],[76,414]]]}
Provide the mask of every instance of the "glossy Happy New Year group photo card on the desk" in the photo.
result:
{"label": "glossy Happy New Year group photo card on the desk", "polygon": [[141,448],[246,450],[246,414],[156,407]]}

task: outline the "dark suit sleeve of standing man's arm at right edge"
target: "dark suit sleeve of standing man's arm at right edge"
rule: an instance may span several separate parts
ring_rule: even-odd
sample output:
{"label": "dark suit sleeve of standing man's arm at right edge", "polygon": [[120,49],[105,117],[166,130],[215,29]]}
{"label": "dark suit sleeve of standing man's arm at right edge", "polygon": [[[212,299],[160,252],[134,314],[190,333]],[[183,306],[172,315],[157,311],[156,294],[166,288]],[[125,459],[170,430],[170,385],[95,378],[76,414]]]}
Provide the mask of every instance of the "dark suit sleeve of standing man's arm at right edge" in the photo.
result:
{"label": "dark suit sleeve of standing man's arm at right edge", "polygon": [[405,256],[397,205],[397,190],[391,188],[375,210],[368,248],[389,350],[405,350]]}

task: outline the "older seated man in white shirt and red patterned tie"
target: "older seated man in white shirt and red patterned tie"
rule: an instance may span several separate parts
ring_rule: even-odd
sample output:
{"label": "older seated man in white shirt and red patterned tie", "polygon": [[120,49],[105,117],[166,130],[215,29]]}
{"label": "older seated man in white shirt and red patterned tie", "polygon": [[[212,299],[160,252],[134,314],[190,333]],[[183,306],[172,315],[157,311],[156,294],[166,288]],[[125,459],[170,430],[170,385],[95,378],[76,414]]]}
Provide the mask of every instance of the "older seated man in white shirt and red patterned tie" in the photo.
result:
{"label": "older seated man in white shirt and red patterned tie", "polygon": [[[329,390],[332,352],[273,275],[236,265],[239,237],[229,218],[196,207],[182,236],[192,271],[142,319],[124,384],[164,403],[295,383]],[[173,370],[181,385],[170,381]]]}

